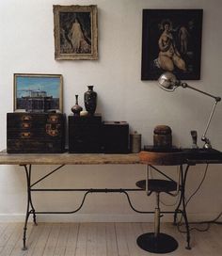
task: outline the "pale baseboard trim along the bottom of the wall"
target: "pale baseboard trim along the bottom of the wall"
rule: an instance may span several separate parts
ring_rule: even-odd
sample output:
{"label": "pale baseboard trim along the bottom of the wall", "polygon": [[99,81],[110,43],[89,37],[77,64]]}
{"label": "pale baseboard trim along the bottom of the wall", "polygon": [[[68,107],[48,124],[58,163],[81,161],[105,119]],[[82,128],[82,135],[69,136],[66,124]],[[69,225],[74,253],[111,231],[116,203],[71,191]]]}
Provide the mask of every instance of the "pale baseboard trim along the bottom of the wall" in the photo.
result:
{"label": "pale baseboard trim along the bottom of the wall", "polygon": [[[198,215],[190,214],[189,221],[212,220],[216,214]],[[10,214],[0,215],[0,222],[24,222],[24,215]],[[29,222],[32,221],[29,217]],[[97,215],[97,214],[75,214],[75,215],[38,215],[38,222],[153,222],[153,215],[135,214],[135,215]],[[162,222],[172,222],[172,215],[165,215],[161,218]]]}

